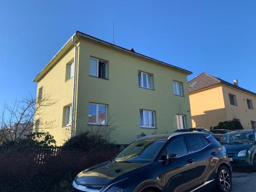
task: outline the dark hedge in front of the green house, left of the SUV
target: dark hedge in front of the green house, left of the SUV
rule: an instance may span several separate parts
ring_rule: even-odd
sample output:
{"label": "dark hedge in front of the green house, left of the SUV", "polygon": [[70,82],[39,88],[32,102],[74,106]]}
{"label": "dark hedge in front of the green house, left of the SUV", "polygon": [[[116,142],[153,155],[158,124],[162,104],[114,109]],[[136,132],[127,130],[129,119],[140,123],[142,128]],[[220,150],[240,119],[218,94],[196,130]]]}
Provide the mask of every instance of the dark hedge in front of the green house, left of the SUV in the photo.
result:
{"label": "dark hedge in front of the green house, left of the SUV", "polygon": [[[53,147],[55,140],[49,133],[4,143],[0,147],[0,191],[69,191],[79,172],[110,160],[119,151],[118,145],[99,133],[84,132],[60,148]],[[59,153],[54,152],[56,148]]]}

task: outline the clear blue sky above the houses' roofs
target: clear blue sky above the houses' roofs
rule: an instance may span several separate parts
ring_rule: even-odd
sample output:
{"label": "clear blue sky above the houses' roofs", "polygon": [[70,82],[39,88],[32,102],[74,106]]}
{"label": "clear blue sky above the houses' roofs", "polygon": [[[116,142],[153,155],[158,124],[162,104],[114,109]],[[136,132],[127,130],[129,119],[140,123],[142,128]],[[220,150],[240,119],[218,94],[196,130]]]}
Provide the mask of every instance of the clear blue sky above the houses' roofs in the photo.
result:
{"label": "clear blue sky above the houses' roofs", "polygon": [[[32,79],[75,31],[256,92],[256,1],[0,0],[0,105]],[[170,85],[171,86],[171,85]]]}

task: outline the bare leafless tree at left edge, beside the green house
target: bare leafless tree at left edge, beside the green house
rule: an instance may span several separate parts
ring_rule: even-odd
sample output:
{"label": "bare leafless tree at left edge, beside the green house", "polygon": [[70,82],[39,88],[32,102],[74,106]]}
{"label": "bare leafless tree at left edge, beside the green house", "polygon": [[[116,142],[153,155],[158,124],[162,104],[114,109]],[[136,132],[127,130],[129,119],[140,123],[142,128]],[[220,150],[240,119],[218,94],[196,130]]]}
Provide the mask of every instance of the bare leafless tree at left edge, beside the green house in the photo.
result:
{"label": "bare leafless tree at left edge, beside the green house", "polygon": [[[40,129],[49,128],[52,122],[43,122],[40,120],[40,116],[44,113],[43,109],[46,106],[55,102],[49,99],[49,96],[34,98],[32,95],[22,100],[16,99],[13,105],[5,102],[2,112],[0,112],[0,142],[24,138],[26,134],[33,131],[34,125],[40,126]],[[37,117],[36,122],[34,122],[35,116]]]}

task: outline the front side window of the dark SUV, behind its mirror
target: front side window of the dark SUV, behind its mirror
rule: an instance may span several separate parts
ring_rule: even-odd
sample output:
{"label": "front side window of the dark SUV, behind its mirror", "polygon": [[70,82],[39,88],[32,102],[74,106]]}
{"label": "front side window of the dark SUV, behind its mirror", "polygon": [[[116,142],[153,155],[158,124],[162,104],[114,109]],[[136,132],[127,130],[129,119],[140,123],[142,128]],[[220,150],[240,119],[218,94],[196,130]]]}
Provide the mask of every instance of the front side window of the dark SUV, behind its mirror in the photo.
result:
{"label": "front side window of the dark SUV, behind its mirror", "polygon": [[171,141],[166,148],[166,152],[168,154],[176,154],[177,157],[186,155],[188,152],[184,139],[180,137]]}

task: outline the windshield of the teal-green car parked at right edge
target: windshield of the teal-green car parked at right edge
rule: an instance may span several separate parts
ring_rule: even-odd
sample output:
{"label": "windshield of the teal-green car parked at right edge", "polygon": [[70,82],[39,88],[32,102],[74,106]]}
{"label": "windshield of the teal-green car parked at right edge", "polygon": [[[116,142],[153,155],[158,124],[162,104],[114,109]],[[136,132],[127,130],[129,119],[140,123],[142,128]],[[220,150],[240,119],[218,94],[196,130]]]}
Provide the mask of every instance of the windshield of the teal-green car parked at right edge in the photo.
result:
{"label": "windshield of the teal-green car parked at right edge", "polygon": [[223,136],[221,144],[253,143],[253,132],[230,133]]}

